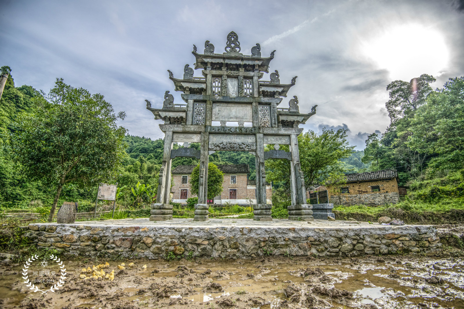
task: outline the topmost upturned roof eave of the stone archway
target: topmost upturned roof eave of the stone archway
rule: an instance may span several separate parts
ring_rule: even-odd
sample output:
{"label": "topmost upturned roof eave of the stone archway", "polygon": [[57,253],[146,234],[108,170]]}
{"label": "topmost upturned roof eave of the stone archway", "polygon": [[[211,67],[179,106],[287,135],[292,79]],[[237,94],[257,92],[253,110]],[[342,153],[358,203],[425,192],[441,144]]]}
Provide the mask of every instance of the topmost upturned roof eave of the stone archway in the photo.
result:
{"label": "topmost upturned roof eave of the stone archway", "polygon": [[195,69],[202,68],[206,70],[207,62],[226,62],[232,64],[251,64],[255,65],[258,63],[259,72],[269,73],[269,63],[274,57],[260,58],[252,56],[232,56],[232,55],[223,55],[223,54],[214,54],[214,55],[203,55],[198,54],[192,51],[193,56],[195,56]]}

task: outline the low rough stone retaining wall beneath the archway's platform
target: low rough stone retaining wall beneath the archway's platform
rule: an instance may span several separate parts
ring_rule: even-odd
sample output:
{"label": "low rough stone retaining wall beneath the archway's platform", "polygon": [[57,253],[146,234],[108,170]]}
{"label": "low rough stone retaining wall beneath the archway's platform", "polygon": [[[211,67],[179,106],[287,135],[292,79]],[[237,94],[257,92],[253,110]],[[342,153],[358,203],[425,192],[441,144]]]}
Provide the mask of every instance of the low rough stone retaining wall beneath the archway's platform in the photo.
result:
{"label": "low rough stone retaining wall beneath the archway's platform", "polygon": [[30,224],[23,237],[72,255],[158,259],[168,252],[221,258],[271,255],[358,256],[426,252],[441,246],[432,226],[353,228],[118,227]]}

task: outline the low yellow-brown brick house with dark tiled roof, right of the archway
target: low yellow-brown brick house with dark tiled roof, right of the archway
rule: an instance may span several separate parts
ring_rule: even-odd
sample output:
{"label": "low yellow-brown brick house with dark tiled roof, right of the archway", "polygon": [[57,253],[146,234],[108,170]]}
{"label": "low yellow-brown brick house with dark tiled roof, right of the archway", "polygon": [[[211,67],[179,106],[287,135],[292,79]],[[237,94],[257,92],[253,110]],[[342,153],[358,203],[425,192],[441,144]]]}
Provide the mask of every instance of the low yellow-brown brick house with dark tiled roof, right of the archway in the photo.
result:
{"label": "low yellow-brown brick house with dark tiled roof, right of the archway", "polygon": [[327,188],[319,186],[315,189],[315,191],[321,190],[329,190],[330,203],[336,205],[383,205],[398,203],[400,195],[405,194],[406,188],[398,186],[396,169],[384,169],[347,174],[346,183],[327,186]]}

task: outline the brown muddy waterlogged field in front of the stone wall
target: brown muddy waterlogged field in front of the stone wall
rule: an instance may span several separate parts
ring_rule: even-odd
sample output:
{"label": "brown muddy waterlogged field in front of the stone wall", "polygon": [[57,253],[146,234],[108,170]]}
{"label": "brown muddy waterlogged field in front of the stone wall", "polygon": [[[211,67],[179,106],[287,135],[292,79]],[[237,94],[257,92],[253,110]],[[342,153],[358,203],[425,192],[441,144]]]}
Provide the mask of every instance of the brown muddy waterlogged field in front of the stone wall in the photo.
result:
{"label": "brown muddy waterlogged field in front of the stone wall", "polygon": [[464,308],[457,258],[110,262],[114,281],[78,278],[101,263],[65,262],[65,284],[48,294],[28,289],[21,266],[1,266],[0,308]]}

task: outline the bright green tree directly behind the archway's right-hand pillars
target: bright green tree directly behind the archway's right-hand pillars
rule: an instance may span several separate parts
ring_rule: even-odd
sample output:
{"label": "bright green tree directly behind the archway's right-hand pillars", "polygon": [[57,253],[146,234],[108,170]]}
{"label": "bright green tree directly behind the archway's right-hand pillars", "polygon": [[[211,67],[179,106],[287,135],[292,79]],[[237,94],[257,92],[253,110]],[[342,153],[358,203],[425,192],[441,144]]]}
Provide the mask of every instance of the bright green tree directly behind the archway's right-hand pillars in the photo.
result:
{"label": "bright green tree directly behind the archway's right-hand pillars", "polygon": [[[344,168],[340,159],[353,153],[354,146],[349,146],[346,129],[322,129],[322,134],[314,131],[298,136],[300,164],[307,188],[313,185],[335,185],[344,179]],[[288,146],[281,146],[289,151]],[[268,150],[271,148],[267,147]],[[272,159],[265,162],[266,180],[277,185],[277,190],[290,196],[290,162],[284,159]],[[284,180],[283,180],[284,179]]]}

